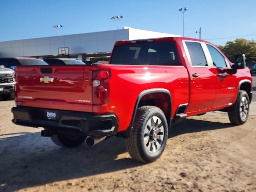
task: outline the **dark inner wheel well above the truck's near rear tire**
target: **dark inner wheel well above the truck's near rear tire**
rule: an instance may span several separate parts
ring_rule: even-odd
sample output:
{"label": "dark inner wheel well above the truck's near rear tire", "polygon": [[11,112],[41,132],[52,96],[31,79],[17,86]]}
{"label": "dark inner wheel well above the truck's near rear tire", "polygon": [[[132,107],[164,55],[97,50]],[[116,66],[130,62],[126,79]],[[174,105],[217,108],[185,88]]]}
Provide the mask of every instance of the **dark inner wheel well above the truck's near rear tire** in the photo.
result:
{"label": "dark inner wheel well above the truck's near rear tire", "polygon": [[164,112],[167,123],[169,125],[172,110],[170,96],[167,93],[159,92],[144,95],[140,99],[138,108],[146,105],[156,106],[160,108]]}

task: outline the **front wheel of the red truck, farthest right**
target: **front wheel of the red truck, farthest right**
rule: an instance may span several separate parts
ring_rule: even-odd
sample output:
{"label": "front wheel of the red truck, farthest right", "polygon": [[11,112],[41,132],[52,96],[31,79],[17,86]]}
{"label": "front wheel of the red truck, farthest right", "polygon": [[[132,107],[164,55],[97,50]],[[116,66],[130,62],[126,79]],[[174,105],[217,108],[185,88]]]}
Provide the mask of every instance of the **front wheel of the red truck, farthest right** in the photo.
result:
{"label": "front wheel of the red truck, farthest right", "polygon": [[[248,120],[249,111],[250,111],[249,96],[246,91],[239,91],[235,110],[228,112],[228,118],[230,122],[234,125],[244,124]],[[246,115],[241,115],[241,113]]]}

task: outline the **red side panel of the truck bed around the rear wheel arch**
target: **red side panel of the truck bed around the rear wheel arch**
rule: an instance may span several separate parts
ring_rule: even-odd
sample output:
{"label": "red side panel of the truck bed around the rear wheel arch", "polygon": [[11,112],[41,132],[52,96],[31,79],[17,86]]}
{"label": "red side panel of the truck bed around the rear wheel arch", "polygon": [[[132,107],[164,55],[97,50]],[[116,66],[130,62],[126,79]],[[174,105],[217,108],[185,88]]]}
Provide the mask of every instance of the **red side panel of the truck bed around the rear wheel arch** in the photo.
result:
{"label": "red side panel of the truck bed around the rear wheel arch", "polygon": [[[169,90],[174,109],[181,103],[188,103],[188,73],[184,66],[92,66],[92,70],[109,69],[109,103],[103,106],[94,105],[92,111],[96,114],[116,114],[120,123],[119,131],[124,131],[129,126],[138,95],[144,90]],[[172,111],[172,117],[174,113],[175,110]]]}

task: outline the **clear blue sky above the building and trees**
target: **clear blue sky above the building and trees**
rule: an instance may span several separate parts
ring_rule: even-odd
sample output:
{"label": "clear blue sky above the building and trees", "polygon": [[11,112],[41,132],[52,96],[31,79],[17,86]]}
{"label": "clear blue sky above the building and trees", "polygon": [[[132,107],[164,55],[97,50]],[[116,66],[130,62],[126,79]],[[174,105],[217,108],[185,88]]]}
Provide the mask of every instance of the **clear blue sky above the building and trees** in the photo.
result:
{"label": "clear blue sky above the building and trees", "polygon": [[[152,30],[202,39],[238,36],[256,40],[255,0],[0,0],[0,41],[56,36],[116,29],[112,16],[122,15],[119,28]],[[251,36],[242,36],[254,34]],[[225,38],[209,40],[224,45]]]}

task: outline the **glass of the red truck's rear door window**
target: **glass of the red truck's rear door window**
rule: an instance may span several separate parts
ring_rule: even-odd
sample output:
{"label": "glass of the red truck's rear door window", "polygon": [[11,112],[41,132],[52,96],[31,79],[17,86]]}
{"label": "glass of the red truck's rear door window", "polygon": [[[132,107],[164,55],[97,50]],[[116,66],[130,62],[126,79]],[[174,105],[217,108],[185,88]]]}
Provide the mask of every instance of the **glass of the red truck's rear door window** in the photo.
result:
{"label": "glass of the red truck's rear door window", "polygon": [[200,43],[186,42],[192,66],[208,66]]}

